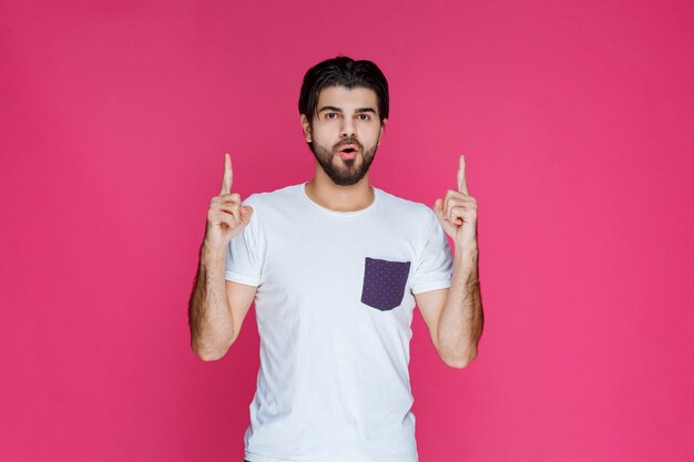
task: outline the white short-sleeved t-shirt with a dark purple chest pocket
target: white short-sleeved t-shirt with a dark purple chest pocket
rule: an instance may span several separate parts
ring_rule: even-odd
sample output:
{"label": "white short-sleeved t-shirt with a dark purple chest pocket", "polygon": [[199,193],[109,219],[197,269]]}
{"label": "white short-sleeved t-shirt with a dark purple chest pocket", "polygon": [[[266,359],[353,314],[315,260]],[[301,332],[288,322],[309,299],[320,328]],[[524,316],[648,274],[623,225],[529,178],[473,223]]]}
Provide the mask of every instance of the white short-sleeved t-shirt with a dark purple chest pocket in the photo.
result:
{"label": "white short-sleeved t-shirt with a dark purple chest pocket", "polygon": [[416,462],[414,294],[450,286],[433,211],[377,187],[357,212],[305,184],[249,195],[225,278],[257,286],[261,368],[244,435],[251,462]]}

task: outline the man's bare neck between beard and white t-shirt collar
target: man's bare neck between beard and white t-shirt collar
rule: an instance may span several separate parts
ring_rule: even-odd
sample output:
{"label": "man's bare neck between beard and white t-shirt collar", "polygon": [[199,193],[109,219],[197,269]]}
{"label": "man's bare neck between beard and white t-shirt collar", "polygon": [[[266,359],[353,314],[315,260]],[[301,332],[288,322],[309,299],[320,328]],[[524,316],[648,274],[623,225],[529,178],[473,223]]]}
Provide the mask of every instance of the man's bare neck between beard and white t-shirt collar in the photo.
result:
{"label": "man's bare neck between beard and white t-shirt collar", "polygon": [[376,193],[369,185],[368,172],[359,182],[340,186],[325,174],[318,163],[314,178],[305,187],[306,195],[313,202],[335,212],[357,212],[368,207],[376,199]]}

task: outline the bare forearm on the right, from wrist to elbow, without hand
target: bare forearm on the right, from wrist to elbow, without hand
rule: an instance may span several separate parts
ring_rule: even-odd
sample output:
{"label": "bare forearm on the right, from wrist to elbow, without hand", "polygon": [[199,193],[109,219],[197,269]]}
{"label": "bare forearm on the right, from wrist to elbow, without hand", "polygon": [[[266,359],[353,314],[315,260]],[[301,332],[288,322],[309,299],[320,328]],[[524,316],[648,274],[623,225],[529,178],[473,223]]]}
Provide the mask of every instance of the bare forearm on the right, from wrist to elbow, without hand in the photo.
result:
{"label": "bare forearm on the right, from wrist to elbow, without hand", "polygon": [[482,335],[484,314],[478,261],[477,246],[456,247],[452,280],[437,330],[441,357],[451,365],[470,363]]}

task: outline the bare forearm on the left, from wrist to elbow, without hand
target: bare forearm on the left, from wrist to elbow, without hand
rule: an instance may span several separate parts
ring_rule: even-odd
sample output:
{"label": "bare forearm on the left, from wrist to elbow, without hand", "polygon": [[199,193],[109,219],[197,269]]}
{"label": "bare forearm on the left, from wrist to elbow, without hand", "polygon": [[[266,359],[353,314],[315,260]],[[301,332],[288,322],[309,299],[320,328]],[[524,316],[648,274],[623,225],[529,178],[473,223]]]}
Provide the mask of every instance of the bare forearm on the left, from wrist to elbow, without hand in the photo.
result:
{"label": "bare forearm on the left, from wrist to elbow, without hand", "polygon": [[220,359],[232,345],[234,325],[224,280],[225,257],[225,249],[212,249],[203,243],[188,321],[191,345],[204,360]]}

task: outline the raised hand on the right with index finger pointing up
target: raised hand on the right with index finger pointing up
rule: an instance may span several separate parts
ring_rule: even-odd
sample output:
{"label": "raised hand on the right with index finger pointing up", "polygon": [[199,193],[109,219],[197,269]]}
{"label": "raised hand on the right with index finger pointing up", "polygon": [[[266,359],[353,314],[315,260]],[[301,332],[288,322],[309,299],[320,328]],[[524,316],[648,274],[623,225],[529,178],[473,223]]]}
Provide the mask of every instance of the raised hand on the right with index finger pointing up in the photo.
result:
{"label": "raised hand on the right with index finger pointing up", "polygon": [[458,191],[449,189],[443,199],[436,199],[433,212],[446,234],[465,249],[477,246],[477,199],[468,193],[465,155],[458,163],[457,184]]}

